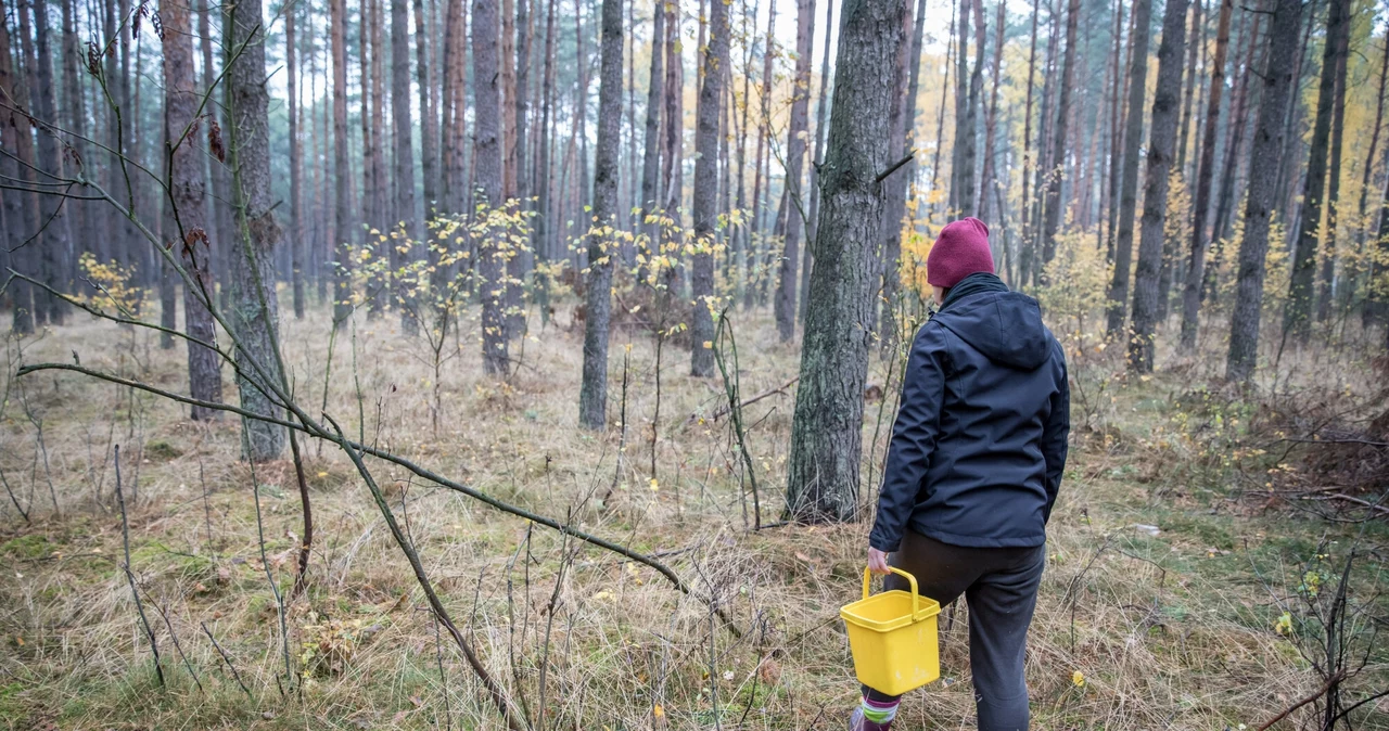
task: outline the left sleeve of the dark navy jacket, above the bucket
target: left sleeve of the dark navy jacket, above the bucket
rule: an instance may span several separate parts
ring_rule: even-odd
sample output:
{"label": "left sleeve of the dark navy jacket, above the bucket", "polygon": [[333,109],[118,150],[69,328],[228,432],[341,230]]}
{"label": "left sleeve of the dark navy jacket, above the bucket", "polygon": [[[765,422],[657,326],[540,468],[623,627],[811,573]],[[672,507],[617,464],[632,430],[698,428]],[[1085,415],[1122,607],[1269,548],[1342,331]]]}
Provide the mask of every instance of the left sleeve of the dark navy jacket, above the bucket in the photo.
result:
{"label": "left sleeve of the dark navy jacket, above the bucket", "polygon": [[878,516],[868,535],[868,545],[878,551],[897,549],[907,519],[917,505],[921,483],[931,466],[931,454],[940,436],[946,363],[945,329],[928,322],[911,344],[901,381],[901,404],[897,406],[897,420],[888,445],[882,490],[878,491]]}

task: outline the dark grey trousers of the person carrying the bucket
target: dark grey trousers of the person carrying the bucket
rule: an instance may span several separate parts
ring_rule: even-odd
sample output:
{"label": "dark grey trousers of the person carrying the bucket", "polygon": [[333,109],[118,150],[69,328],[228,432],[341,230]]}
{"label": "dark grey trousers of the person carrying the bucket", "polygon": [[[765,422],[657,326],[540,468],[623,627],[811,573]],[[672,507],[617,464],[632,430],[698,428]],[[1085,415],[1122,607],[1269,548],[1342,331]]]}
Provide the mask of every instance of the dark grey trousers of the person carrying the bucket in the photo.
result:
{"label": "dark grey trousers of the person carrying the bucket", "polygon": [[[1046,547],[963,548],[907,531],[889,562],[917,577],[917,588],[940,606],[964,594],[970,606],[970,667],[979,731],[1026,731],[1028,685],[1024,651]],[[886,590],[908,591],[907,580],[890,574]],[[895,700],[872,688],[874,700]]]}

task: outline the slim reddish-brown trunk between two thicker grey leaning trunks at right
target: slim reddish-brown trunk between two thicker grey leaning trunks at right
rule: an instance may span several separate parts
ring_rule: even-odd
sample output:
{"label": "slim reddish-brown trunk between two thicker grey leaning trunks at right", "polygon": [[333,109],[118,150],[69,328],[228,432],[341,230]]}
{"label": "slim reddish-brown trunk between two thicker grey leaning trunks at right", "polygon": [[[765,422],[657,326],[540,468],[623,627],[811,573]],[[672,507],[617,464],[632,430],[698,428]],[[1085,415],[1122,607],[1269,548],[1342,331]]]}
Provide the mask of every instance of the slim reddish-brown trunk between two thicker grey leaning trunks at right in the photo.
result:
{"label": "slim reddish-brown trunk between two thicker grey leaning trunks at right", "polygon": [[1229,49],[1229,18],[1233,0],[1222,0],[1220,25],[1215,28],[1215,58],[1211,60],[1211,96],[1206,105],[1206,132],[1201,135],[1200,169],[1196,173],[1196,197],[1192,201],[1192,248],[1186,259],[1186,283],[1182,290],[1181,350],[1196,348],[1196,329],[1201,311],[1201,277],[1206,273],[1206,214],[1210,211],[1211,180],[1215,176],[1215,122],[1220,119],[1220,98],[1225,90],[1225,53]]}

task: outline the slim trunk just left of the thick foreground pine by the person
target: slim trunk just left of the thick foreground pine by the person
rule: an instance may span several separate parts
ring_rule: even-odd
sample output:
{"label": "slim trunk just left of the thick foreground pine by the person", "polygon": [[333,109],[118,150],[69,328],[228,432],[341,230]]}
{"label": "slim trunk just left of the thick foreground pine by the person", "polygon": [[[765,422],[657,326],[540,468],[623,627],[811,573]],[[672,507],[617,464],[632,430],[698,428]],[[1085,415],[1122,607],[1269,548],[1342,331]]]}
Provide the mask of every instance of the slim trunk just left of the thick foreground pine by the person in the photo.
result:
{"label": "slim trunk just left of the thick foreground pine by the person", "polygon": [[[715,0],[715,6],[722,4]],[[796,275],[800,272],[800,234],[806,197],[801,180],[806,164],[806,135],[810,130],[810,64],[814,57],[815,0],[796,1],[796,75],[792,79],[790,125],[786,129],[786,246],[782,248],[776,277],[776,334],[782,343],[796,336]],[[906,194],[906,186],[903,186]]]}

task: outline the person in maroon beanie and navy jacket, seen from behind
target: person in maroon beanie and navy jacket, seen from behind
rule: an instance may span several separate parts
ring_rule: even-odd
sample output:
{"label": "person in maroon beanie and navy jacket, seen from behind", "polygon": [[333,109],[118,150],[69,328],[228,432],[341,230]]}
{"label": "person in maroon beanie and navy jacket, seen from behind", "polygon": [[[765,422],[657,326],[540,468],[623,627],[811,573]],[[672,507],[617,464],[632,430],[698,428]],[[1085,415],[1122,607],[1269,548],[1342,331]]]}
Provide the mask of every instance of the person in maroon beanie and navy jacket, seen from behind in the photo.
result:
{"label": "person in maroon beanie and navy jacket, seen from behind", "polygon": [[[1025,730],[1024,646],[1071,429],[1065,354],[1036,300],[995,276],[982,221],[940,230],[926,282],[939,311],[911,344],[868,567],[911,573],[942,606],[964,595],[979,728]],[[908,585],[889,574],[885,588]],[[888,730],[899,700],[864,688],[850,728]]]}

